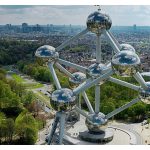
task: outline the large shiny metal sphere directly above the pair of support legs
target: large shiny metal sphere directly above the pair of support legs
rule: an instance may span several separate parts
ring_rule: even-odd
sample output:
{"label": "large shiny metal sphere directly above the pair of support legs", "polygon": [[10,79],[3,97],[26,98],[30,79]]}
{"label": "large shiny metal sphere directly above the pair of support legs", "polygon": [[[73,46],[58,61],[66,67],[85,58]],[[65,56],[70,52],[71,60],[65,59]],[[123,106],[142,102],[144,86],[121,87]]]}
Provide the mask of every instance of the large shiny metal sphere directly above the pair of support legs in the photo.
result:
{"label": "large shiny metal sphere directly above the pair of support legs", "polygon": [[56,111],[69,111],[76,104],[72,90],[64,88],[52,93],[51,106]]}

